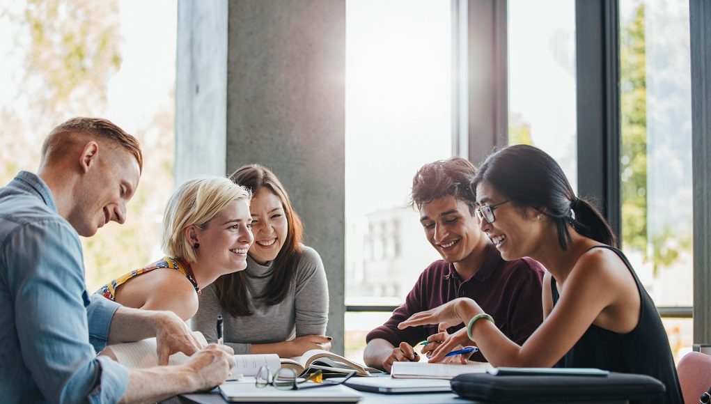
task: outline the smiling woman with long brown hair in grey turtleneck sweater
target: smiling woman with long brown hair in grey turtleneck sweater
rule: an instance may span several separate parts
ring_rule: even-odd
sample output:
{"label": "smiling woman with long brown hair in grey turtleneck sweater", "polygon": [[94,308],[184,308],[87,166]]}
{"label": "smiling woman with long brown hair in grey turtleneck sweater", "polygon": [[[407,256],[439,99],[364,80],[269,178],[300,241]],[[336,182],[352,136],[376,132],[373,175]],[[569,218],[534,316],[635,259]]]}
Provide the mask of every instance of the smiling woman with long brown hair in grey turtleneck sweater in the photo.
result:
{"label": "smiling woman with long brown hair in grey turtleneck sweater", "polygon": [[303,226],[277,176],[259,164],[237,169],[230,179],[251,188],[252,233],[247,269],[219,277],[203,289],[194,330],[217,341],[218,314],[224,341],[235,353],[301,356],[331,349],[324,336],[328,286],[319,253],[301,244]]}

